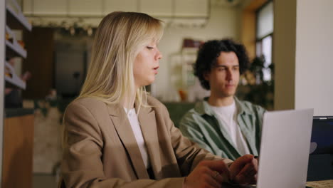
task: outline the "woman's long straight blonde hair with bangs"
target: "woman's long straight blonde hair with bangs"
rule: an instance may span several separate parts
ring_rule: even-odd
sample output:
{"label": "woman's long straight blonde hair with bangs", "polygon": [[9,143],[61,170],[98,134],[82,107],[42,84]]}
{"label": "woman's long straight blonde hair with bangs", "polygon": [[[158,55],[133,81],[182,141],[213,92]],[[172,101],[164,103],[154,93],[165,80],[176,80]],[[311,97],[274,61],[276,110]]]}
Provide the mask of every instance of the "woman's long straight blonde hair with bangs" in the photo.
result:
{"label": "woman's long straight blonde hair with bangs", "polygon": [[[142,100],[144,87],[135,90],[133,63],[139,51],[162,37],[162,21],[136,12],[112,12],[95,33],[92,57],[78,98],[97,98],[105,103],[130,105]],[[134,96],[135,93],[135,96]]]}

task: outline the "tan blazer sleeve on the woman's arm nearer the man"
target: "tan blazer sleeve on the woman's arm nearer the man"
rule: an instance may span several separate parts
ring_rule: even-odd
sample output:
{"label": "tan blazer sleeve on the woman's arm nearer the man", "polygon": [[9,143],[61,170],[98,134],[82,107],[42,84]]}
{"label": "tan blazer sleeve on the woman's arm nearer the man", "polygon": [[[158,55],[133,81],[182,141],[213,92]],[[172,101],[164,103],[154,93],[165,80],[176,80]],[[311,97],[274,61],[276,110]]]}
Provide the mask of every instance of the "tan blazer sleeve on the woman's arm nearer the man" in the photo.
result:
{"label": "tan blazer sleeve on the woman's arm nearer the man", "polygon": [[163,105],[166,125],[169,128],[171,135],[172,147],[177,158],[177,162],[183,175],[188,175],[203,160],[223,160],[230,165],[233,161],[213,155],[211,152],[202,149],[195,142],[192,142],[187,137],[181,134],[181,131],[174,126],[174,123],[169,117],[168,110]]}

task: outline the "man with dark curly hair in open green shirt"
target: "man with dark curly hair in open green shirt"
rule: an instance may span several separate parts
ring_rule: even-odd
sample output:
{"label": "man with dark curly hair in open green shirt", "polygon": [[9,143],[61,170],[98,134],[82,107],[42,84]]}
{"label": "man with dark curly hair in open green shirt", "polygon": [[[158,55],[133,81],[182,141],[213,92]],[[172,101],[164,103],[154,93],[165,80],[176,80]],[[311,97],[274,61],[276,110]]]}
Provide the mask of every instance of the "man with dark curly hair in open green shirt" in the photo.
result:
{"label": "man with dark curly hair in open green shirt", "polygon": [[258,155],[265,109],[238,100],[240,75],[248,67],[245,47],[231,39],[207,41],[199,49],[194,75],[211,95],[182,117],[186,137],[215,155],[236,160]]}

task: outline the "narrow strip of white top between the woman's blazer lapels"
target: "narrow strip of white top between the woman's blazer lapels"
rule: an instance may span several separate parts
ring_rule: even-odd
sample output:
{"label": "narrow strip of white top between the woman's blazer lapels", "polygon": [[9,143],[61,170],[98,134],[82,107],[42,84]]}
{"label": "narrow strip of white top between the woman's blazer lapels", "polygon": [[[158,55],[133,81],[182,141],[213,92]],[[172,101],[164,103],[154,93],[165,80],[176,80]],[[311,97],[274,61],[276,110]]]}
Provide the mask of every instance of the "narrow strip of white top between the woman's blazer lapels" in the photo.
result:
{"label": "narrow strip of white top between the woman's blazer lapels", "polygon": [[[124,108],[127,113],[127,108]],[[144,144],[144,138],[142,136],[141,127],[139,125],[139,120],[137,119],[137,113],[135,112],[135,108],[132,108],[127,113],[127,118],[129,120],[129,124],[132,127],[135,140],[137,140],[137,145],[139,146],[142,160],[144,160],[144,166],[148,169],[150,167],[149,156],[147,153],[147,147]]]}

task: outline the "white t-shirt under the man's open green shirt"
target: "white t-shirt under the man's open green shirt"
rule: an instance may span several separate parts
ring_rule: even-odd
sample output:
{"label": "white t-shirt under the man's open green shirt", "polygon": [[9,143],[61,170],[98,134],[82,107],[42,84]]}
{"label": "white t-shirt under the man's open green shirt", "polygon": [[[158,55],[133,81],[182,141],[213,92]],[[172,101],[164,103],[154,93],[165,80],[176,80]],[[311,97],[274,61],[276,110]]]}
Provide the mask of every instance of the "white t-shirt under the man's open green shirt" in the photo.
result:
{"label": "white t-shirt under the man's open green shirt", "polygon": [[221,107],[211,106],[211,108],[218,115],[218,119],[221,120],[222,126],[227,130],[231,137],[231,142],[236,145],[240,155],[250,154],[248,144],[236,121],[237,109],[235,100],[231,105]]}

